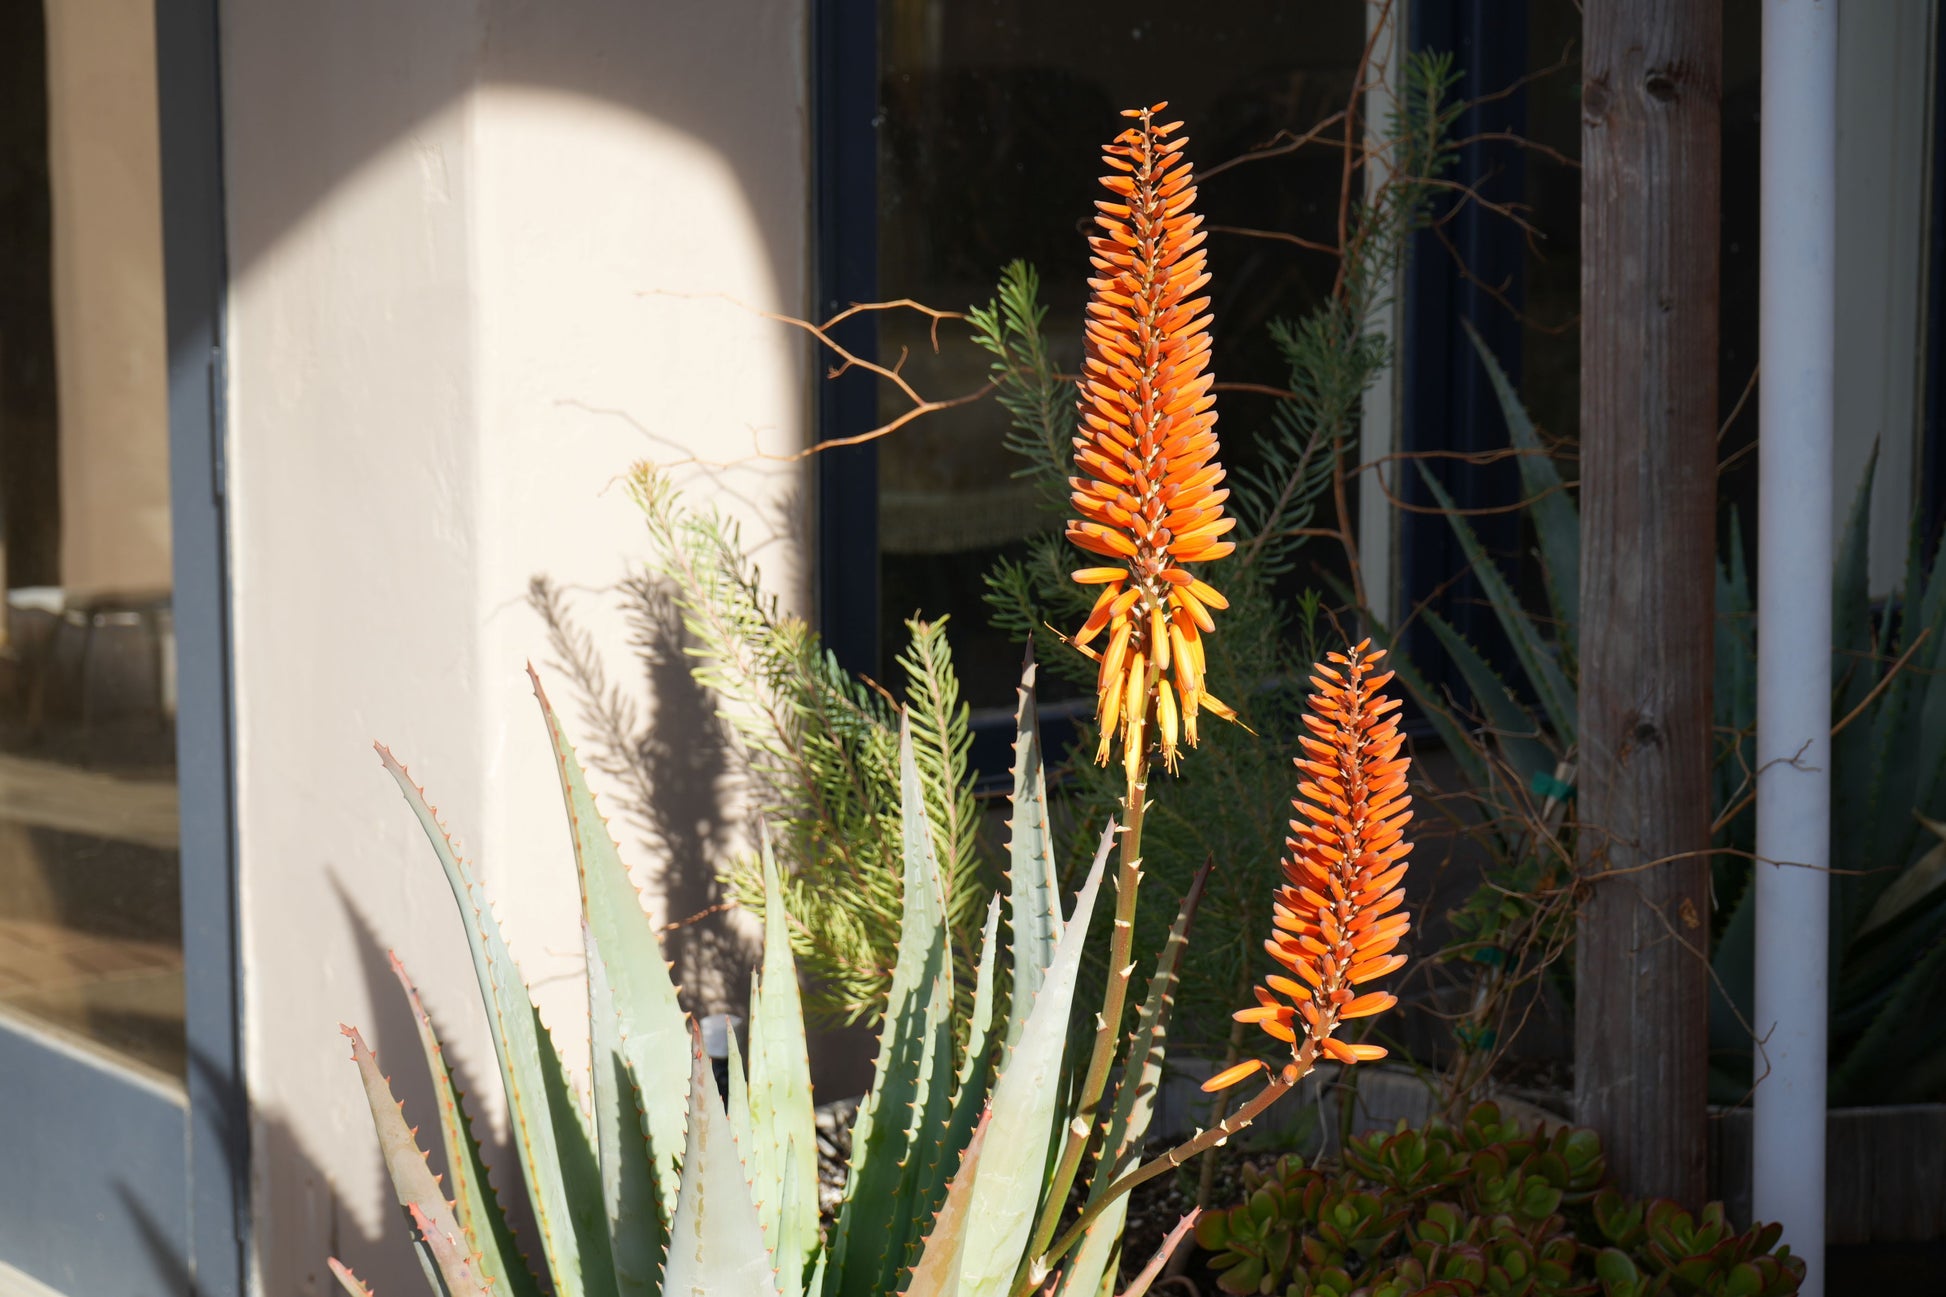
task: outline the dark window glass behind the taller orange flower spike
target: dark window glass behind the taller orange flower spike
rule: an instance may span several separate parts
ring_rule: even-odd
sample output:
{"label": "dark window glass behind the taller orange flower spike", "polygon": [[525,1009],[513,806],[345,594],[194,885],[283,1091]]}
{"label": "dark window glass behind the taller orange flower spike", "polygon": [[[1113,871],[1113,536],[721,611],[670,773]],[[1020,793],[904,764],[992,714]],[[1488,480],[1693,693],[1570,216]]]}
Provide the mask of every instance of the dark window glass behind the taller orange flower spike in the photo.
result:
{"label": "dark window glass behind the taller orange flower spike", "polygon": [[[1121,109],[1170,101],[1201,171],[1302,132],[1345,107],[1364,49],[1358,0],[1135,0],[1113,12],[1043,0],[883,0],[880,4],[880,261],[883,298],[940,308],[985,304],[1000,267],[1041,273],[1057,362],[1080,366],[1086,232],[1101,146]],[[1288,238],[1335,241],[1341,154],[1308,148],[1249,162],[1201,183],[1210,226],[1216,380],[1284,386],[1269,323],[1331,288],[1335,261]],[[985,380],[971,345],[934,354],[930,321],[880,317],[880,356],[926,395]],[[882,419],[903,409],[885,389]],[[1224,458],[1249,462],[1269,425],[1265,397],[1220,395]],[[905,645],[915,611],[950,613],[967,697],[1012,709],[1020,648],[987,627],[983,574],[1020,553],[1035,528],[1033,489],[1014,479],[1006,413],[992,401],[920,419],[880,442],[880,660]],[[1323,547],[1319,555],[1323,557]],[[1049,676],[1043,682],[1059,689]]]}

